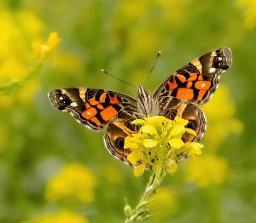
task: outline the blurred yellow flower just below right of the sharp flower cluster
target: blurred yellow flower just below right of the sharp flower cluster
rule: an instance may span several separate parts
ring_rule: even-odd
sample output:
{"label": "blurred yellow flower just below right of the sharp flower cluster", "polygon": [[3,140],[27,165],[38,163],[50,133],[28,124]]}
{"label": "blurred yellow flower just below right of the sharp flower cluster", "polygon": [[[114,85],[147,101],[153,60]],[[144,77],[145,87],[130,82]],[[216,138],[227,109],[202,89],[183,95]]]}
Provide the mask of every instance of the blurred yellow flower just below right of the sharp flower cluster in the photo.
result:
{"label": "blurred yellow flower just below right of the sharp flower cluster", "polygon": [[186,169],[186,179],[201,187],[221,184],[227,177],[228,163],[224,157],[204,156],[200,161],[190,159]]}

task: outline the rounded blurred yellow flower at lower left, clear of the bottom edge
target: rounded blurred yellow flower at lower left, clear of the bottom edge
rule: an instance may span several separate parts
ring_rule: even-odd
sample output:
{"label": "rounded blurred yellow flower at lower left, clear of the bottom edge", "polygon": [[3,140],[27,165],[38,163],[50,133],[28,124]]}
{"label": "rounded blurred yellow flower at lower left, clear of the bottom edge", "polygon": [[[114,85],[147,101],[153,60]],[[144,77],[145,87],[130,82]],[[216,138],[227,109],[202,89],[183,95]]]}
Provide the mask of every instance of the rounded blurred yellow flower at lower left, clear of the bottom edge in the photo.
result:
{"label": "rounded blurred yellow flower at lower left, clear of the bottom edge", "polygon": [[91,203],[94,200],[95,176],[79,163],[67,164],[61,173],[49,180],[46,198],[50,202],[79,201]]}

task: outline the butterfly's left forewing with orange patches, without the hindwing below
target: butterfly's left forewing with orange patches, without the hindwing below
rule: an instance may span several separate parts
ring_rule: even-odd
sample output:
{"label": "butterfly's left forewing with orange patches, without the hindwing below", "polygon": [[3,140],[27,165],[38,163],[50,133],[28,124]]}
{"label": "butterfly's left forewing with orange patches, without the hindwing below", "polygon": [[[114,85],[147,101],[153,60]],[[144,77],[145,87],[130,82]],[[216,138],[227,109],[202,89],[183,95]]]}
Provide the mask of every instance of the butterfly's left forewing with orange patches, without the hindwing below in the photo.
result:
{"label": "butterfly's left forewing with orange patches, without the hindwing below", "polygon": [[49,93],[49,100],[53,106],[70,112],[80,123],[94,130],[106,128],[115,118],[127,118],[129,112],[131,118],[137,111],[135,99],[103,89],[55,89]]}

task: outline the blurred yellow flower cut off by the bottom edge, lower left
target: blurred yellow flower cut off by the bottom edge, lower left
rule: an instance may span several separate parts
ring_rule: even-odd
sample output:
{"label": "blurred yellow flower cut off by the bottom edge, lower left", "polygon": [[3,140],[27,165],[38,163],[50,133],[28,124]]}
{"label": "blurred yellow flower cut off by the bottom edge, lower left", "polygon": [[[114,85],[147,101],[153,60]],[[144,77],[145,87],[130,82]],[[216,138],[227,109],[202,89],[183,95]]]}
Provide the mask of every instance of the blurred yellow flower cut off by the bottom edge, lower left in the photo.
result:
{"label": "blurred yellow flower cut off by the bottom edge, lower left", "polygon": [[43,214],[32,220],[23,221],[23,223],[88,223],[89,220],[83,215],[68,210],[62,210],[59,213]]}

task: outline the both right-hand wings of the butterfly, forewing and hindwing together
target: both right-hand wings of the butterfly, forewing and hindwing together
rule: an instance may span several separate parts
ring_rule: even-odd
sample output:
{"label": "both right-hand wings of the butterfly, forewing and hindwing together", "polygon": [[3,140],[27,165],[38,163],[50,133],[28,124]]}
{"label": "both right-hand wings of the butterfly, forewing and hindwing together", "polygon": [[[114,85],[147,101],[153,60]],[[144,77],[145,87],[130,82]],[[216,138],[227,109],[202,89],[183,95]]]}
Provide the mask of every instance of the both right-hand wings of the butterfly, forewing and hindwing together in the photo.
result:
{"label": "both right-hand wings of the butterfly, forewing and hindwing together", "polygon": [[232,63],[230,49],[221,48],[192,60],[167,78],[154,92],[160,115],[183,117],[197,136],[185,134],[185,141],[199,141],[206,131],[206,117],[197,105],[205,104],[218,88],[219,77]]}

